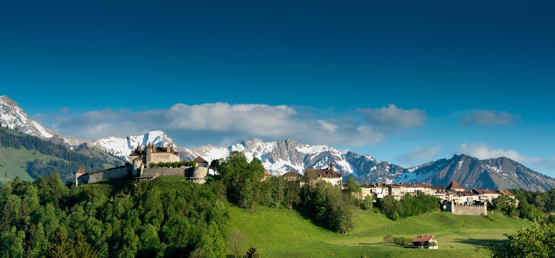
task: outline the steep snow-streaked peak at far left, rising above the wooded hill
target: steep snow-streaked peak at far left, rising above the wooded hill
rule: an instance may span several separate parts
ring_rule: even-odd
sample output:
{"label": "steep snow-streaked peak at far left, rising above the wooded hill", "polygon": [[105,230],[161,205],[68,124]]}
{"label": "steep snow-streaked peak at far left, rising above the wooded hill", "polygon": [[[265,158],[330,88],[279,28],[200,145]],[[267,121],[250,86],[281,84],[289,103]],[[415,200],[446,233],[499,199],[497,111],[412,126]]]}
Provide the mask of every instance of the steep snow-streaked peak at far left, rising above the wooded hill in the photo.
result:
{"label": "steep snow-streaked peak at far left, rising above the wooded hill", "polygon": [[17,102],[6,95],[0,96],[0,125],[43,139],[52,138],[56,132],[29,118]]}

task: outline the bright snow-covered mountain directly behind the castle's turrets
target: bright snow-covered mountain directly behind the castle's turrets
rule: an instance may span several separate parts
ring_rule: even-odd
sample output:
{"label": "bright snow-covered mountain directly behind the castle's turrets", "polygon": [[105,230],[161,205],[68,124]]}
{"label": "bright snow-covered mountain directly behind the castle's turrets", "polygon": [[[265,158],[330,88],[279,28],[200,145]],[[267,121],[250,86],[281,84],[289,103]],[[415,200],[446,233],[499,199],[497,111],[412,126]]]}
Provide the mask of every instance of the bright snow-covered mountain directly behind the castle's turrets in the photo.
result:
{"label": "bright snow-covered mountain directly behind the castle's turrets", "polygon": [[170,145],[172,148],[179,149],[175,142],[162,131],[150,131],[144,135],[129,135],[127,137],[106,137],[85,142],[126,161],[129,161],[129,154],[138,145],[144,148],[150,143],[158,147]]}

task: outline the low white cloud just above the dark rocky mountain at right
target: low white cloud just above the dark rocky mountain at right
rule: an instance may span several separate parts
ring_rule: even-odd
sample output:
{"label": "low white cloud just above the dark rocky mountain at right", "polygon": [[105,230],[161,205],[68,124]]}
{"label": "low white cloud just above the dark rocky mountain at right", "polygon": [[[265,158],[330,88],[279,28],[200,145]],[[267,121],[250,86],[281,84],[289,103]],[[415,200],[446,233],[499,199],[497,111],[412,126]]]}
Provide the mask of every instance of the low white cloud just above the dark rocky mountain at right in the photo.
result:
{"label": "low white cloud just above the dark rocky mountain at right", "polygon": [[518,153],[514,149],[490,149],[486,143],[472,143],[471,145],[467,145],[466,143],[462,143],[462,145],[458,148],[459,153],[464,153],[472,157],[476,157],[478,159],[488,159],[488,158],[498,158],[498,157],[507,157],[513,159],[517,162],[527,162],[527,163],[541,163],[543,159],[541,158],[533,158],[533,157],[525,157],[522,154]]}

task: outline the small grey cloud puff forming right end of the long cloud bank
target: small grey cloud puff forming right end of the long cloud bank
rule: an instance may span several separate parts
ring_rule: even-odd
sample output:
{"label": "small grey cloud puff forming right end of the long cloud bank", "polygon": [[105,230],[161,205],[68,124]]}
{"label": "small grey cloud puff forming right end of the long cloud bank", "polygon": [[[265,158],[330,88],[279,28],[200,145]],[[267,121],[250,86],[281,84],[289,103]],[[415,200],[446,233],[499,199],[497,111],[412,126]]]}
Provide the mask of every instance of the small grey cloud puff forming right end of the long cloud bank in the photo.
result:
{"label": "small grey cloud puff forming right end of the long cloud bank", "polygon": [[422,126],[426,120],[426,112],[420,109],[399,109],[393,104],[381,109],[359,109],[371,125],[382,127],[413,128]]}

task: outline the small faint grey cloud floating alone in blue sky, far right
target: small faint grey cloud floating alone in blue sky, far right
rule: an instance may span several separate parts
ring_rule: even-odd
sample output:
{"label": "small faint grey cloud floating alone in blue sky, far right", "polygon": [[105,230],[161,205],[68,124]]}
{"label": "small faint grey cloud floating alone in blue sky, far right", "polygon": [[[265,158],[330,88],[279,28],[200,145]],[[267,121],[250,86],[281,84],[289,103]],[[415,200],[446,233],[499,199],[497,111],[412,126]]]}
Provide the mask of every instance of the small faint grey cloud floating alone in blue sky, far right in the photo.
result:
{"label": "small faint grey cloud floating alone in blue sky, far right", "polygon": [[475,110],[463,118],[459,124],[468,125],[475,123],[477,125],[503,125],[512,126],[515,121],[521,121],[518,115],[513,115],[507,111],[496,110]]}

